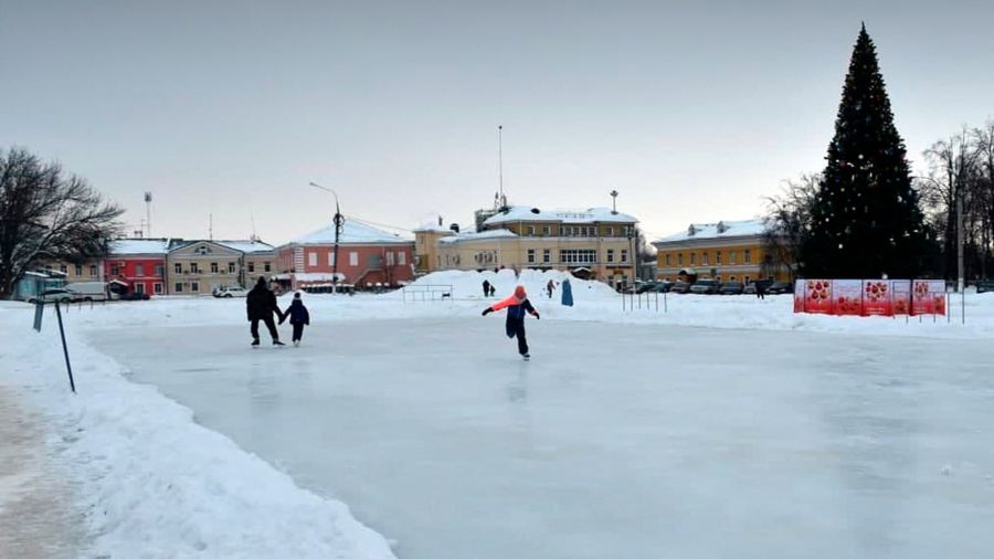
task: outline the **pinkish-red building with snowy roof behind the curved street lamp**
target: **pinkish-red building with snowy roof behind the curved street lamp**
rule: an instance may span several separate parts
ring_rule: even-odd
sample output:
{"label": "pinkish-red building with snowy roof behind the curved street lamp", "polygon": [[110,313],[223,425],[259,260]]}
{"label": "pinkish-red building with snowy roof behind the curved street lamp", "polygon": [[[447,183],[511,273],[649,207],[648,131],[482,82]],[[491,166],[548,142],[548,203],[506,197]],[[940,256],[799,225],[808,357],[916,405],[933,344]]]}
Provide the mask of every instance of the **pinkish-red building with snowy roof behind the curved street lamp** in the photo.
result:
{"label": "pinkish-red building with snowy roof behind the curved street lamp", "polygon": [[290,241],[276,250],[276,281],[297,289],[338,284],[358,289],[396,286],[414,278],[414,240],[346,218],[335,268],[335,225]]}

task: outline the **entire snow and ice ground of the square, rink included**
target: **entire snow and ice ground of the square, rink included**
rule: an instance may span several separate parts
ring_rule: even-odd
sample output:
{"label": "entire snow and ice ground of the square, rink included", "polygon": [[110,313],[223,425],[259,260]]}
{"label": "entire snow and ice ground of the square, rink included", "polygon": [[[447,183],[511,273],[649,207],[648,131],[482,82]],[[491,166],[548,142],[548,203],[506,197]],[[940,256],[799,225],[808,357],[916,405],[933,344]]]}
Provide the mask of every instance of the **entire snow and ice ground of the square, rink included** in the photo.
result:
{"label": "entire snow and ice ground of the square, rink included", "polygon": [[[498,297],[518,281],[532,294],[531,362],[501,316],[479,316],[485,277]],[[240,299],[73,308],[75,397],[54,316],[35,334],[29,307],[0,304],[0,402],[32,418],[18,452],[0,451],[0,528],[27,495],[82,518],[75,534],[31,529],[84,557],[392,557],[388,539],[432,559],[994,544],[994,296],[967,296],[965,325],[797,316],[789,296],[633,312],[575,280],[562,307],[539,295],[549,277],[562,278],[433,274],[419,284],[454,291],[435,303],[305,296],[314,326],[285,349],[265,335],[247,348]],[[44,474],[4,468],[11,454]]]}

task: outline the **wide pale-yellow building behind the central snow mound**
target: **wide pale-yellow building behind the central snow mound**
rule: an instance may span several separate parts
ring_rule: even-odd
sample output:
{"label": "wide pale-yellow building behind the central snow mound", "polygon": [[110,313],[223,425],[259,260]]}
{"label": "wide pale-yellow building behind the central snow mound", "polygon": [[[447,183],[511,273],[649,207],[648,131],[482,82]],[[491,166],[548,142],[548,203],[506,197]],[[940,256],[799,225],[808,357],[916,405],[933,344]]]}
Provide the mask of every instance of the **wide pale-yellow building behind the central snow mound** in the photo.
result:
{"label": "wide pale-yellow building behind the central snow mound", "polygon": [[424,256],[426,272],[561,270],[614,285],[633,278],[636,223],[607,208],[543,211],[518,205],[503,209],[472,233],[416,230],[415,250]]}

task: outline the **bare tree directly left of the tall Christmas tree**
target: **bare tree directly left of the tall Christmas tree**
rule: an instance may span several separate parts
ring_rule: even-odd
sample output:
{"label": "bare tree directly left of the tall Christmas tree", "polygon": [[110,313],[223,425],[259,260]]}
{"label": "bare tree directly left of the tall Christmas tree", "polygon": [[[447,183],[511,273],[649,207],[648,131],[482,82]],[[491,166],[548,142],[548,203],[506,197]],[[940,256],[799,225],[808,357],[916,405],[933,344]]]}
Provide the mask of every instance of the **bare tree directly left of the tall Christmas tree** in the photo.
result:
{"label": "bare tree directly left of the tall Christmas tree", "polygon": [[811,225],[811,208],[822,182],[819,173],[785,180],[780,196],[766,199],[766,228],[763,233],[765,256],[760,264],[763,277],[778,270],[797,270],[801,242]]}

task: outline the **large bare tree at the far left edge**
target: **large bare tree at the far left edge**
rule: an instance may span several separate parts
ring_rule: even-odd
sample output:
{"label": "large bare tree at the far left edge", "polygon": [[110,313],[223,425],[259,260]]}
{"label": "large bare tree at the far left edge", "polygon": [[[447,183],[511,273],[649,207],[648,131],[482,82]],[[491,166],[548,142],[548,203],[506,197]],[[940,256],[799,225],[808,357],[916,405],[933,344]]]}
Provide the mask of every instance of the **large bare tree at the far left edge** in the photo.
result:
{"label": "large bare tree at the far left edge", "polygon": [[0,151],[0,298],[42,259],[103,255],[124,210],[23,148]]}

